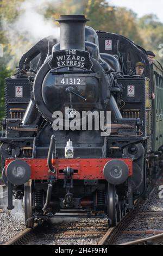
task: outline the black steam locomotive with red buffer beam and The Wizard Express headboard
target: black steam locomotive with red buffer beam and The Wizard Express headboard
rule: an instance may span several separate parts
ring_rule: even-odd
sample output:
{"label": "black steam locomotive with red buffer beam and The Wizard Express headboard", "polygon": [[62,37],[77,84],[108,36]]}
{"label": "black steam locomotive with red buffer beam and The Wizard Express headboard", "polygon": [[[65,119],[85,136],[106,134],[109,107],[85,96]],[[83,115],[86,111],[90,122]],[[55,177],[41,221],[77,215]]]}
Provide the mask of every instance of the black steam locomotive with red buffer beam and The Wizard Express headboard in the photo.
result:
{"label": "black steam locomotive with red buffer beam and The Wizard Express headboard", "polygon": [[[59,42],[37,42],[5,79],[8,209],[13,195],[23,199],[27,227],[63,213],[115,226],[161,168],[163,69],[128,38],[85,26],[83,15],[57,21]],[[140,61],[144,77],[133,71]],[[104,127],[96,129],[101,113]]]}

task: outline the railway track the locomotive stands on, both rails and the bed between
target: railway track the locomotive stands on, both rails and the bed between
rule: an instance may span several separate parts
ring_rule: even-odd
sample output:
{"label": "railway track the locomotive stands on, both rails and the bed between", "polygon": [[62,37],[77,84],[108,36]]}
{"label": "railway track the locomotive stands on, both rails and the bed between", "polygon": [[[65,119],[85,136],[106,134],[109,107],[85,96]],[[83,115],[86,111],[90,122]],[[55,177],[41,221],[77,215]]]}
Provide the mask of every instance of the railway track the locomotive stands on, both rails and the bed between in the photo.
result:
{"label": "railway track the locomotive stands on, both rails and the bed between", "polygon": [[[64,240],[71,239],[71,243],[69,245],[75,245],[76,243],[80,245],[80,241],[84,245],[88,245],[86,241],[91,240],[92,245],[104,245],[105,242],[110,240],[109,244],[114,243],[116,237],[120,235],[121,231],[124,230],[127,225],[133,220],[136,215],[137,210],[139,209],[139,205],[142,204],[142,200],[137,200],[135,204],[135,208],[131,210],[124,219],[118,223],[117,227],[107,228],[107,220],[100,219],[98,224],[92,223],[92,220],[81,219],[80,221],[73,222],[71,225],[67,223],[64,224],[66,227],[61,227],[58,230],[57,224],[45,224],[42,226],[39,224],[35,224],[35,229],[27,228],[23,230],[20,234],[13,237],[8,242],[4,243],[4,245],[35,245],[38,244],[39,239],[41,241],[39,244],[46,245],[47,240],[50,245],[60,245],[60,239],[64,237]],[[56,235],[57,234],[57,235]],[[57,236],[57,237],[55,237]],[[52,242],[54,240],[54,243]],[[64,242],[64,241],[62,241]]]}

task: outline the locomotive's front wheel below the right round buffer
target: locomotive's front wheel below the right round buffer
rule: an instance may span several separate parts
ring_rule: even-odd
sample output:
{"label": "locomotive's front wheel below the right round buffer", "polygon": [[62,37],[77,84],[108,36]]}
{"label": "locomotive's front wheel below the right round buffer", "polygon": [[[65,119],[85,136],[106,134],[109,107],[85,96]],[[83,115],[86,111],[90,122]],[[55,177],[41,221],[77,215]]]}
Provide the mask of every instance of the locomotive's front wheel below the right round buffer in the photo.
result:
{"label": "locomotive's front wheel below the right round buffer", "polygon": [[114,227],[117,224],[118,211],[118,196],[116,194],[115,185],[108,183],[108,191],[106,193],[107,216],[110,219],[109,226]]}

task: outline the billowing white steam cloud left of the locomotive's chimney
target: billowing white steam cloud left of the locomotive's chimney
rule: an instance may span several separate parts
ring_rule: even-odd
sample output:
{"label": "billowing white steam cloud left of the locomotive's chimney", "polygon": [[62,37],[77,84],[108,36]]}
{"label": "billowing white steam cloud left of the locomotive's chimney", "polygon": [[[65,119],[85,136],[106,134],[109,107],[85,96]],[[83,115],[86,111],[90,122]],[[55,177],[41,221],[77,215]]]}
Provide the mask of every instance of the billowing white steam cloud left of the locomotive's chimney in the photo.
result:
{"label": "billowing white steam cloud left of the locomotive's chimney", "polygon": [[44,14],[49,7],[58,6],[55,0],[26,0],[17,7],[18,17],[13,23],[3,21],[3,30],[8,38],[11,54],[10,68],[15,68],[21,56],[37,41],[52,35],[59,38],[60,28],[54,25],[54,18],[46,19]]}

